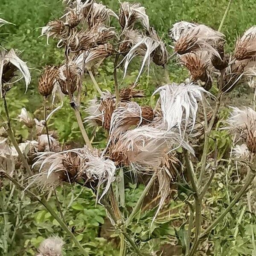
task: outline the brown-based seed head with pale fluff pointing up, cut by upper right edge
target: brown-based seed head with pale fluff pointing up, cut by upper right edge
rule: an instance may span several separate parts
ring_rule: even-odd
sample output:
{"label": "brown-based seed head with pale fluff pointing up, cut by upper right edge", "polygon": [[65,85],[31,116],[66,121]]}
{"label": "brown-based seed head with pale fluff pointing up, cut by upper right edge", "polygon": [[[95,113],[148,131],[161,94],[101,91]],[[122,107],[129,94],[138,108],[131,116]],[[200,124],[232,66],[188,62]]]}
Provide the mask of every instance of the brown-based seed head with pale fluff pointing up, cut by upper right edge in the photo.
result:
{"label": "brown-based seed head with pale fluff pointing up, cut by upper right edge", "polygon": [[237,40],[235,58],[239,61],[256,57],[256,26],[252,26]]}

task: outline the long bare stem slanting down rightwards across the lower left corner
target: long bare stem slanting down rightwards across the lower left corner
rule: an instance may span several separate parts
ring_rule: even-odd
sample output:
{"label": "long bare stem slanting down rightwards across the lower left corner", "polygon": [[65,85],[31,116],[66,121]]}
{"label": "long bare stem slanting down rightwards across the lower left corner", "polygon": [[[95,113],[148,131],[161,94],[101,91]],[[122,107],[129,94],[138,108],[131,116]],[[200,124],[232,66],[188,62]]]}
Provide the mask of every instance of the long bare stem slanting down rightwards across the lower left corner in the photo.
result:
{"label": "long bare stem slanting down rightwards across the lower left corner", "polygon": [[13,177],[11,177],[10,175],[8,175],[5,172],[5,176],[12,181],[12,183],[14,183],[21,191],[25,191],[27,195],[29,195],[29,197],[35,201],[38,201],[39,203],[41,203],[42,205],[44,205],[44,207],[47,209],[47,211],[52,215],[52,217],[55,218],[56,221],[58,221],[58,223],[60,224],[60,226],[63,228],[63,230],[65,230],[67,232],[67,234],[70,235],[71,239],[73,239],[74,243],[76,244],[77,247],[79,247],[82,255],[84,256],[89,256],[89,254],[84,250],[84,248],[81,246],[81,244],[79,243],[79,241],[77,241],[76,236],[72,233],[72,231],[69,229],[69,227],[67,226],[67,224],[58,216],[58,214],[54,211],[54,209],[50,206],[50,204],[46,201],[45,197],[39,198],[38,195],[35,195],[33,192],[31,192],[29,189],[25,189],[25,187],[23,187],[22,185],[20,185],[20,183],[18,183],[17,180],[15,180]]}

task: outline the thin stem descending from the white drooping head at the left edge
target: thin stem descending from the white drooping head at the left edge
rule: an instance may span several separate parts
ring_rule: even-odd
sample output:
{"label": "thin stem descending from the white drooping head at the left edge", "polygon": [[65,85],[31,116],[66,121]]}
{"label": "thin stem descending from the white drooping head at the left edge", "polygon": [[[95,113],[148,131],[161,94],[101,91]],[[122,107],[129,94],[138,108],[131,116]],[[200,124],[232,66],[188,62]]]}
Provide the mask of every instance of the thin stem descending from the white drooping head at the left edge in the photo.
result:
{"label": "thin stem descending from the white drooping head at the left edge", "polygon": [[24,154],[21,152],[19,145],[15,139],[14,133],[12,131],[12,126],[11,126],[11,122],[10,122],[10,117],[9,117],[9,112],[8,112],[8,108],[7,108],[7,103],[6,103],[6,98],[5,96],[3,96],[3,103],[4,103],[4,109],[5,109],[5,113],[6,113],[6,119],[7,119],[7,134],[9,136],[9,139],[11,140],[12,144],[14,145],[20,159],[22,160],[26,171],[29,173],[29,175],[33,175],[31,168],[26,160],[26,157],[24,156]]}

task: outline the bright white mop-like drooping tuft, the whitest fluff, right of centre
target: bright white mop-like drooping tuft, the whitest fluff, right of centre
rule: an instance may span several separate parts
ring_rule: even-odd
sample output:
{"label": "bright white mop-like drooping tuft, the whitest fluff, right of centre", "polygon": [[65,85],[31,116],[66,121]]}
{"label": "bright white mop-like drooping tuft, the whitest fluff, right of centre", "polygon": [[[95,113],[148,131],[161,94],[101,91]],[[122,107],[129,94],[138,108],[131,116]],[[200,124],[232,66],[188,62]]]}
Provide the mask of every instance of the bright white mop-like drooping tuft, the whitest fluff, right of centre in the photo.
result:
{"label": "bright white mop-like drooping tuft, the whitest fluff, right of centre", "polygon": [[166,84],[159,87],[153,95],[160,93],[161,109],[163,120],[167,123],[167,130],[177,127],[181,132],[184,131],[192,121],[191,131],[194,128],[196,113],[198,110],[198,100],[202,101],[203,95],[211,93],[196,84]]}

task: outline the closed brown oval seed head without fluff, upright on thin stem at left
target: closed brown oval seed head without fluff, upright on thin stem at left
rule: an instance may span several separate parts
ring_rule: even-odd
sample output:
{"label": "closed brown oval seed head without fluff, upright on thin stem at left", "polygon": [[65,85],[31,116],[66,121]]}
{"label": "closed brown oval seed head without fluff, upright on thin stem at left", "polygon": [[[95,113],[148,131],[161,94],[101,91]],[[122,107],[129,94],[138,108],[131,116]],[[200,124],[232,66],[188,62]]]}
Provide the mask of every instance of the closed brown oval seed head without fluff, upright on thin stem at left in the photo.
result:
{"label": "closed brown oval seed head without fluff, upright on thin stem at left", "polygon": [[56,66],[46,66],[44,68],[44,73],[38,81],[38,90],[42,96],[47,97],[52,93],[58,73],[59,71]]}

